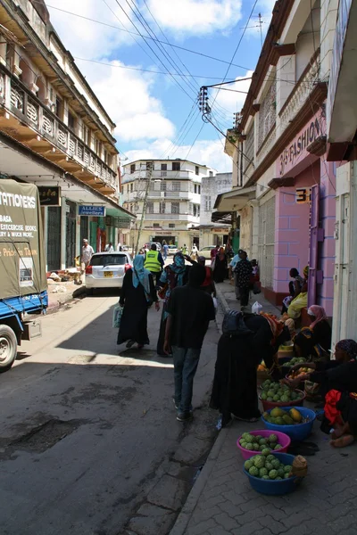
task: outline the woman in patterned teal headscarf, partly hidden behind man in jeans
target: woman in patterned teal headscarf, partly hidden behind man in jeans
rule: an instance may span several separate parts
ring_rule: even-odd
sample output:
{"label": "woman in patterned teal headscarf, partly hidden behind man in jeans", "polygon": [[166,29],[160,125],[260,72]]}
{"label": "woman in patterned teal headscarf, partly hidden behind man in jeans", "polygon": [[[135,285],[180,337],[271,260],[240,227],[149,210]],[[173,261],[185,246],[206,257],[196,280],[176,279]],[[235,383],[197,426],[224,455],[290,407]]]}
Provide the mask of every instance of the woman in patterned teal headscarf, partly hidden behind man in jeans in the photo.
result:
{"label": "woman in patterned teal headscarf, partly hidden behind man in jeans", "polygon": [[[188,259],[188,257],[187,257]],[[181,251],[177,252],[173,257],[173,263],[162,271],[162,276],[159,285],[162,289],[159,291],[159,297],[163,300],[162,306],[162,320],[160,323],[159,338],[157,340],[157,354],[161,357],[167,357],[163,350],[163,342],[165,339],[166,320],[168,318],[168,303],[170,300],[170,293],[176,286],[184,286],[188,281],[188,271],[191,266],[185,264],[185,257]]]}

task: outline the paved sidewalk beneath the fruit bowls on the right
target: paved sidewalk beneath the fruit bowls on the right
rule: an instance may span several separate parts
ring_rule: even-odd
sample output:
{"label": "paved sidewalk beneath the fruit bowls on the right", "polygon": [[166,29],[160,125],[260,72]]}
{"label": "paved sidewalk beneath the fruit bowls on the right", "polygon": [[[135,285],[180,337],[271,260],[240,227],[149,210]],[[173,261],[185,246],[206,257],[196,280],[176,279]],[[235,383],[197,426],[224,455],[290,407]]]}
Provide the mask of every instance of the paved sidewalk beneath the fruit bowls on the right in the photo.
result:
{"label": "paved sidewalk beneath the fruit bowls on the right", "polygon": [[[234,286],[217,286],[222,309],[239,309]],[[279,313],[262,294],[253,300],[259,300],[265,311]],[[250,487],[236,444],[243,432],[254,429],[264,425],[234,421],[220,431],[170,535],[356,533],[357,447],[332,449],[328,435],[320,432],[320,422],[315,421],[309,440],[320,451],[307,457],[309,473],[302,485],[293,494],[264,496]]]}

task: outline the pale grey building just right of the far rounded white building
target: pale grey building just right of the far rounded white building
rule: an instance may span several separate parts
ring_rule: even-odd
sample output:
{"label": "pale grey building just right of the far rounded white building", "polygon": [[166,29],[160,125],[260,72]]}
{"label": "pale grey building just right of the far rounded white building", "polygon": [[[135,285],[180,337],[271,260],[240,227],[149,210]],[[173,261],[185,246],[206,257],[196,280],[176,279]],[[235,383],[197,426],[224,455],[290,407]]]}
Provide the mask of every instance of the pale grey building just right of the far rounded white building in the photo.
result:
{"label": "pale grey building just right of the far rounded white building", "polygon": [[[231,229],[227,223],[213,222],[212,212],[220,193],[232,189],[232,173],[217,173],[215,177],[203,177],[201,182],[200,247],[225,244]],[[230,214],[229,214],[230,217]]]}

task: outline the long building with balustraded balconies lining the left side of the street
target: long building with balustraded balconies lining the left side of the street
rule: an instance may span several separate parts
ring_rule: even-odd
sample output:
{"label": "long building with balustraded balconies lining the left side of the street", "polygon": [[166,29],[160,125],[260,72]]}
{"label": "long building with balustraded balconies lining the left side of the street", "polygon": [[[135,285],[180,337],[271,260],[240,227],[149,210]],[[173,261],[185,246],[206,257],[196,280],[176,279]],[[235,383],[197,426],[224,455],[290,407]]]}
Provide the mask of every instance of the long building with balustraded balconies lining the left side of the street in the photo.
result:
{"label": "long building with balustraded balconies lining the left side of the street", "polygon": [[3,0],[0,24],[0,173],[40,187],[47,269],[73,266],[84,237],[97,251],[129,232],[115,125],[44,0]]}

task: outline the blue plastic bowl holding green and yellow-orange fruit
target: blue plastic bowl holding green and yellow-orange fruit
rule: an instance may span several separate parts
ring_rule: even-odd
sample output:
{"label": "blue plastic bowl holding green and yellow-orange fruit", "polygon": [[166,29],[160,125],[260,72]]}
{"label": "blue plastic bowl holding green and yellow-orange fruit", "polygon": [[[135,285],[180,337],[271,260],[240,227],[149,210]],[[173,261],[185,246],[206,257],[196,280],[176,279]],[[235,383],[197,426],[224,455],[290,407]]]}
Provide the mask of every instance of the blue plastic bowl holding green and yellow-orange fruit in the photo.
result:
{"label": "blue plastic bowl holding green and yellow-orange fruit", "polygon": [[312,432],[316,413],[305,407],[274,407],[262,415],[262,422],[272,432],[286,433],[291,440],[304,440]]}

